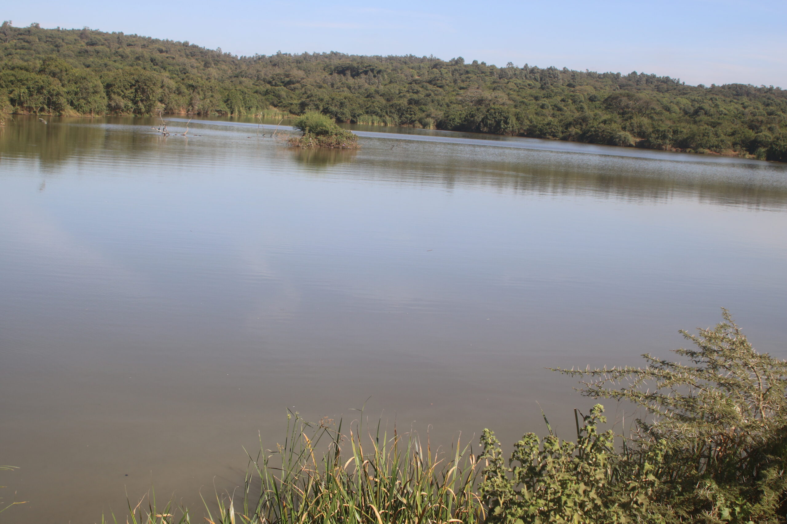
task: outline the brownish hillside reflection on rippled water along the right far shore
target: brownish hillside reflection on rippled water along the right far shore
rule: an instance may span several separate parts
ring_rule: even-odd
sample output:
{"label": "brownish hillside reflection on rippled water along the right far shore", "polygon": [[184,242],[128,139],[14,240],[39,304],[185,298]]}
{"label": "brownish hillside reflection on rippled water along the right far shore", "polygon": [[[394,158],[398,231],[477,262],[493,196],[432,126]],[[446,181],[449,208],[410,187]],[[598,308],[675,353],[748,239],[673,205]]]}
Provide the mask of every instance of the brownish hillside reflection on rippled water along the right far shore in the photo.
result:
{"label": "brownish hillside reflection on rippled water along the right far shore", "polygon": [[[449,146],[450,147],[450,146]],[[367,151],[359,163],[371,177],[445,188],[483,186],[500,191],[554,195],[589,194],[600,198],[665,201],[693,196],[708,203],[783,208],[787,203],[787,166],[775,164],[704,165],[653,159],[601,157],[544,152],[484,150],[434,151],[433,145],[407,150]],[[383,169],[384,167],[384,169]]]}

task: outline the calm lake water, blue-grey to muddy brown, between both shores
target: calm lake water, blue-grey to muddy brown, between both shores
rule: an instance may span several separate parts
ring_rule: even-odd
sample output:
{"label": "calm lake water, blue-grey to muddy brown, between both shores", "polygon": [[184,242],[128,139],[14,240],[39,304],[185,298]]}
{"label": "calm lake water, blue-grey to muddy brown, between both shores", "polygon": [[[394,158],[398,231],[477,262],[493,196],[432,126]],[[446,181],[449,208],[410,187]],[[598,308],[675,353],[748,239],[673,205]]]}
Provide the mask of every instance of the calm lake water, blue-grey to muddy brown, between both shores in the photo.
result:
{"label": "calm lake water, blue-grey to muddy brown, between both shores", "polygon": [[592,402],[545,366],[666,356],[719,306],[787,357],[784,164],[152,124],[0,130],[0,496],[29,500],[6,522],[96,522],[151,484],[194,503],[293,406],[439,442],[543,432],[540,406],[570,437]]}

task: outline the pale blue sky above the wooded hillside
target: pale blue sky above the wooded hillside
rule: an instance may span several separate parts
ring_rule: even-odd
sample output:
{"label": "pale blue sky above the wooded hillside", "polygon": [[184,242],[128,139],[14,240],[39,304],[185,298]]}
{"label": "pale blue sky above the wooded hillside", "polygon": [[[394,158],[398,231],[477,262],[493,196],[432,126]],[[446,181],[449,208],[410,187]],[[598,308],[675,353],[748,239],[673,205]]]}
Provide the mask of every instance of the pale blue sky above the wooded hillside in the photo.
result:
{"label": "pale blue sky above the wooded hillside", "polygon": [[188,40],[234,54],[434,55],[689,84],[787,88],[787,0],[683,2],[7,2],[4,20]]}

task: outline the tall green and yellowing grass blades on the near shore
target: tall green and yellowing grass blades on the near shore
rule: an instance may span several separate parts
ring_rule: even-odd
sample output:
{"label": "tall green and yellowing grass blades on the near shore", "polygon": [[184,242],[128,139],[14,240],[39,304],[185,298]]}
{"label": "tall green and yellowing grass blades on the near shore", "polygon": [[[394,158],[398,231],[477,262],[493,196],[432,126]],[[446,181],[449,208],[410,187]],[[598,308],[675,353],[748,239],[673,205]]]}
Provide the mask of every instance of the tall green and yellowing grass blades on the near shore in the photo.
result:
{"label": "tall green and yellowing grass blades on the near shore", "polygon": [[[392,432],[378,422],[349,431],[330,420],[308,423],[288,414],[287,434],[274,450],[249,456],[242,493],[205,502],[210,524],[408,524],[482,522],[474,492],[479,464],[469,445],[432,449],[418,434]],[[114,517],[113,517],[114,519]],[[129,504],[129,524],[185,524],[188,508]],[[116,522],[116,521],[115,521]]]}

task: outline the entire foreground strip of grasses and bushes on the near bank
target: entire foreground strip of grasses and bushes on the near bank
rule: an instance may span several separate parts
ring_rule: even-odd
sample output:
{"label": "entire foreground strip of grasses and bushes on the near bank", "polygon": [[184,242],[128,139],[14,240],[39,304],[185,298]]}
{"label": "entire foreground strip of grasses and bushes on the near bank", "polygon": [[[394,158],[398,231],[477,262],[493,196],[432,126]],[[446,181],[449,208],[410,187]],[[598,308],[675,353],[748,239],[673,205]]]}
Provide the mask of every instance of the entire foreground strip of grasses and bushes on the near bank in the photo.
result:
{"label": "entire foreground strip of grasses and bushes on the near bank", "polygon": [[[730,524],[787,522],[787,361],[758,354],[724,310],[689,363],[644,355],[644,368],[557,370],[580,390],[643,410],[626,435],[600,431],[601,405],[576,416],[577,441],[525,434],[509,460],[490,430],[474,456],[423,448],[416,434],[309,424],[288,416],[274,452],[249,463],[242,495],[205,504],[212,524]],[[294,419],[292,416],[294,415]],[[615,445],[620,438],[621,445]],[[321,453],[320,453],[321,449]],[[135,524],[190,522],[169,504],[131,509]],[[176,520],[178,519],[178,520]]]}

